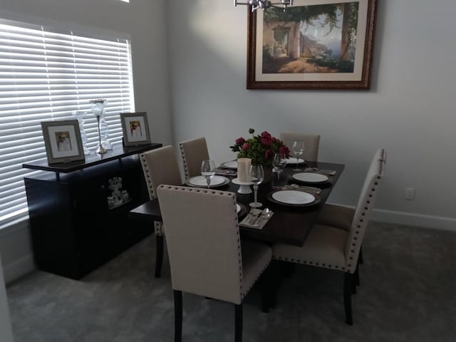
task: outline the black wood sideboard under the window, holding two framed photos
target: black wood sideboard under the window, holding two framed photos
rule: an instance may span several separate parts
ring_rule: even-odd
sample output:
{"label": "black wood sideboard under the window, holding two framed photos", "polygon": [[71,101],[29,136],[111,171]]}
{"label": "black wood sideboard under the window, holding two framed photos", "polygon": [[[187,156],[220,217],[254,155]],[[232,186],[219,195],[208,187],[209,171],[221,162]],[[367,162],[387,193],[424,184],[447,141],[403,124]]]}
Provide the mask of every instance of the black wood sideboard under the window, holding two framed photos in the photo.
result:
{"label": "black wood sideboard under the window, holding two framed photos", "polygon": [[[128,213],[149,199],[138,154],[161,146],[118,144],[84,161],[23,164],[41,170],[24,177],[38,269],[81,279],[151,234],[152,224],[130,219]],[[130,199],[109,207],[113,177],[122,177],[122,190]]]}

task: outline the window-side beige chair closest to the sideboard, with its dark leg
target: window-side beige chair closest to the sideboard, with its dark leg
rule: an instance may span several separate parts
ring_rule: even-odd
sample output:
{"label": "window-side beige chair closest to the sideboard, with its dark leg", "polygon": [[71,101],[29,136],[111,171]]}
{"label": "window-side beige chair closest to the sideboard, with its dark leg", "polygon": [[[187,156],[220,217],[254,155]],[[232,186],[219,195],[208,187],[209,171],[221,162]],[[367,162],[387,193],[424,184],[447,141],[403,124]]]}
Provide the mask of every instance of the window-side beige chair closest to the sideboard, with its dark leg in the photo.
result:
{"label": "window-side beige chair closest to the sideboard, with its dark leg", "polygon": [[[174,147],[165,146],[143,152],[140,154],[140,160],[150,199],[157,197],[157,187],[160,184],[182,185]],[[163,261],[163,237],[165,235],[162,222],[154,222],[154,230],[157,240],[155,277],[160,278]]]}

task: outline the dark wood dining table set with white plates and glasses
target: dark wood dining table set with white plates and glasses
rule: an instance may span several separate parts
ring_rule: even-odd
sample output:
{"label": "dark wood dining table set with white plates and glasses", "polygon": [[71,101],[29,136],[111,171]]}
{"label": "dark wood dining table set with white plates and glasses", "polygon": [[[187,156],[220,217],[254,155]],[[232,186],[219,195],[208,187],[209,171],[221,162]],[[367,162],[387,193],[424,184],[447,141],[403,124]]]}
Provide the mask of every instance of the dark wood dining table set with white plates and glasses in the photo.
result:
{"label": "dark wood dining table set with white plates and glasses", "polygon": [[[236,193],[237,203],[242,208],[239,211],[239,222],[242,222],[242,219],[249,214],[249,203],[253,202],[254,194],[253,192],[249,194],[239,193],[238,190],[241,185],[236,182],[235,170],[233,172],[232,169],[224,169],[223,165],[224,163],[217,169],[217,175],[223,175],[223,177],[227,178],[227,181],[218,187],[214,187],[214,189]],[[239,224],[239,232],[243,238],[279,242],[294,246],[302,246],[304,244],[312,226],[318,219],[321,208],[336,186],[345,165],[332,162],[305,162],[299,167],[302,171],[296,171],[296,165],[294,164],[286,165],[280,173],[280,177],[277,177],[277,174],[272,172],[270,180],[261,182],[258,187],[258,200],[263,204],[263,207],[260,209],[268,208],[273,214],[261,229],[244,227]],[[227,172],[225,173],[223,170],[227,170]],[[296,173],[302,174],[303,172],[317,175],[323,174],[326,175],[327,180],[320,182],[301,182],[301,180],[296,180]],[[183,185],[189,186],[189,184],[186,180]],[[276,201],[272,196],[277,191],[294,189],[291,187],[292,185],[296,187],[297,191],[309,192],[315,197],[315,200],[307,204],[287,204]],[[301,190],[301,188],[305,190]],[[307,191],[307,189],[310,190]],[[130,210],[129,216],[147,222],[161,222],[160,203],[157,198],[147,201]]]}

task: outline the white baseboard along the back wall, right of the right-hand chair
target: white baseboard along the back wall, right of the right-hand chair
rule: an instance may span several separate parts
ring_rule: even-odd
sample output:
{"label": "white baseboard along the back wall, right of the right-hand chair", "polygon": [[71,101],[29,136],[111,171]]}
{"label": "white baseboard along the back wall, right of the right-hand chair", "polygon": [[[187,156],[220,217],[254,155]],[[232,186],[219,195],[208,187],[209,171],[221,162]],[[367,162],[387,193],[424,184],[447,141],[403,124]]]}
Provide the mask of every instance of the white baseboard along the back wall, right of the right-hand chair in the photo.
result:
{"label": "white baseboard along the back wall, right of the right-hand chair", "polygon": [[456,232],[456,219],[452,217],[430,216],[423,214],[413,214],[410,212],[393,212],[392,210],[374,209],[371,219],[380,222],[405,224],[407,226],[417,226]]}

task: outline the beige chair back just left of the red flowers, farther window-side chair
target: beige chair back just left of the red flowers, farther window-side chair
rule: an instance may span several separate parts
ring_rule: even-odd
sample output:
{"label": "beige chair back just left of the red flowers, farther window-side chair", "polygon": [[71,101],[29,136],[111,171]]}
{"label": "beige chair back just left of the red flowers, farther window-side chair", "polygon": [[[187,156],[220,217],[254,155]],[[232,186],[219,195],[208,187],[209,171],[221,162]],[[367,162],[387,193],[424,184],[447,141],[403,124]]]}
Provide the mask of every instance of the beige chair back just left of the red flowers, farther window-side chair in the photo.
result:
{"label": "beige chair back just left of the red flowers, farther window-side chair", "polygon": [[205,138],[196,138],[179,143],[185,179],[201,175],[201,162],[209,159]]}

